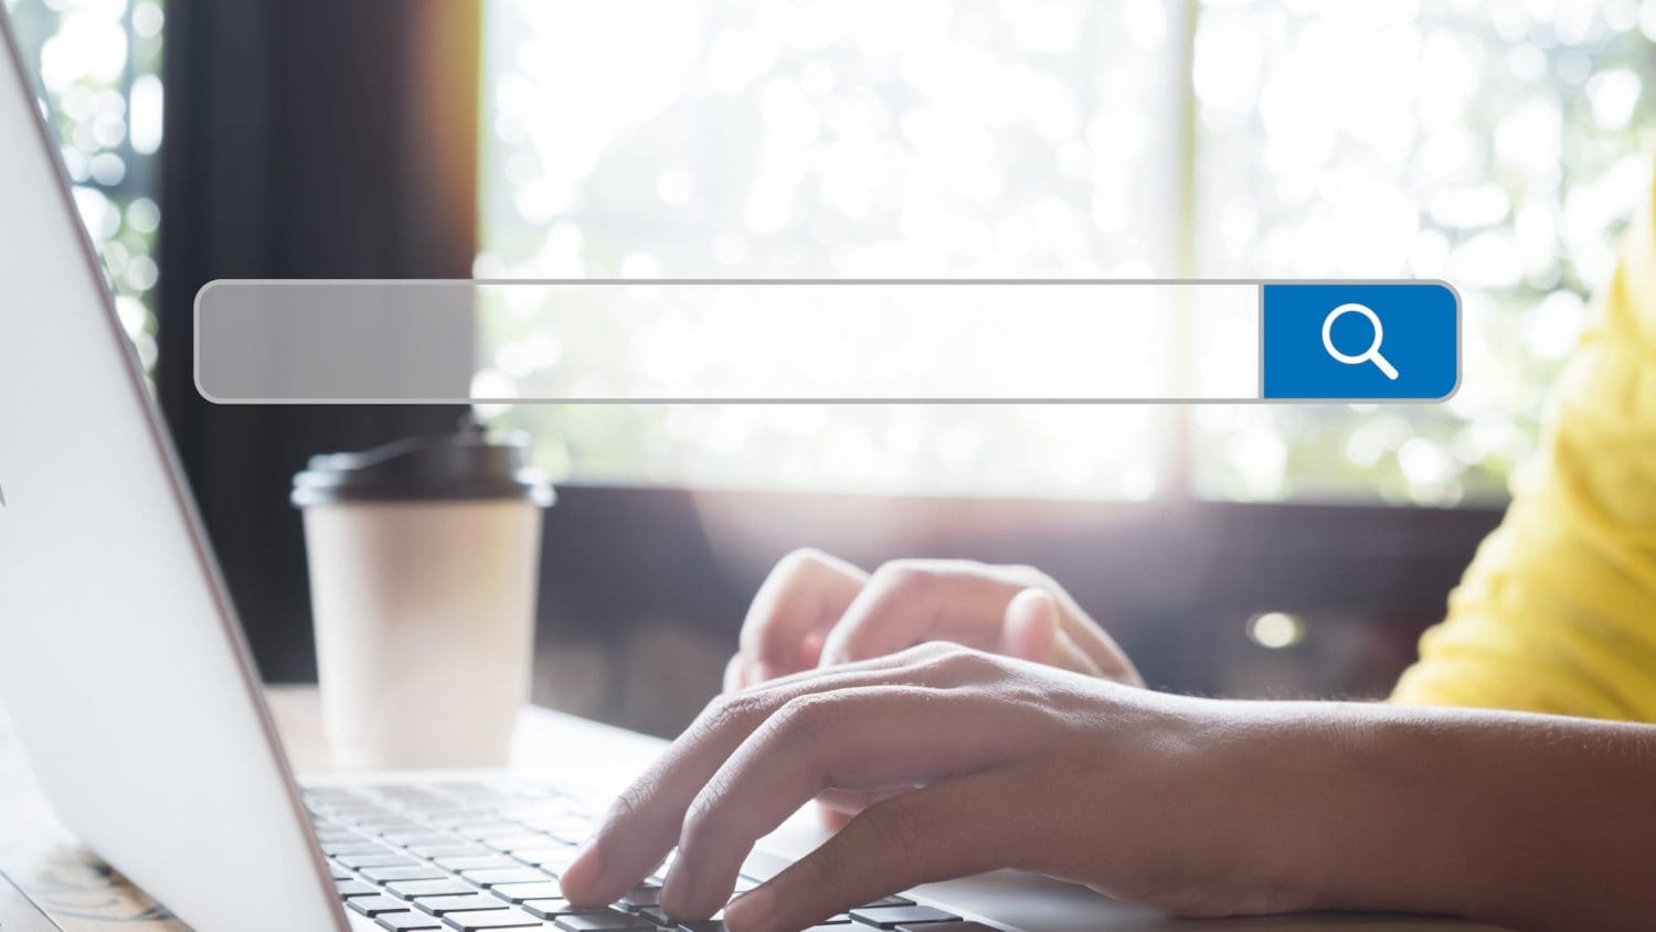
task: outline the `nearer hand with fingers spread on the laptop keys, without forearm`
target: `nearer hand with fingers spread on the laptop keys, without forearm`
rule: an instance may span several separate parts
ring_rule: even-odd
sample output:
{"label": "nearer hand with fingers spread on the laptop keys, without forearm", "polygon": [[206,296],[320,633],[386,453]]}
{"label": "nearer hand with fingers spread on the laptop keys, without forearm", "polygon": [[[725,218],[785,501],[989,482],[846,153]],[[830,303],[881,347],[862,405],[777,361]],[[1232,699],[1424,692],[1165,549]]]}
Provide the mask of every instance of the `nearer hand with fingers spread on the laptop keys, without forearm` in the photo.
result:
{"label": "nearer hand with fingers spread on the laptop keys, without forearm", "polygon": [[916,786],[732,902],[727,925],[803,929],[999,867],[1182,914],[1302,907],[1272,844],[1237,826],[1262,808],[1222,781],[1268,776],[1232,757],[1262,752],[1229,738],[1222,709],[949,644],[795,674],[715,699],[619,796],[563,892],[611,902],[677,846],[662,909],[707,917],[753,843],[820,791]]}

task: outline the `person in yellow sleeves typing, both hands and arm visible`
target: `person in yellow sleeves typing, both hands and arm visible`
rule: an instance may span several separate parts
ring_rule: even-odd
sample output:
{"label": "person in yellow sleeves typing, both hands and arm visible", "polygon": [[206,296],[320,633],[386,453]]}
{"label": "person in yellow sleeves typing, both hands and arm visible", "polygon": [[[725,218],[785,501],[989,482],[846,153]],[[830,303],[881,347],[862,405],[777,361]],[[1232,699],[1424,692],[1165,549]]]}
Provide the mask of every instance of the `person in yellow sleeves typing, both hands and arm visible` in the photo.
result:
{"label": "person in yellow sleeves typing, both hands and arm visible", "polygon": [[[803,929],[914,884],[1038,871],[1181,915],[1399,910],[1656,924],[1656,237],[1646,205],[1449,616],[1388,704],[1143,689],[1030,568],[800,551],[727,692],[563,874],[609,902]],[[850,814],[725,906],[802,803]]]}

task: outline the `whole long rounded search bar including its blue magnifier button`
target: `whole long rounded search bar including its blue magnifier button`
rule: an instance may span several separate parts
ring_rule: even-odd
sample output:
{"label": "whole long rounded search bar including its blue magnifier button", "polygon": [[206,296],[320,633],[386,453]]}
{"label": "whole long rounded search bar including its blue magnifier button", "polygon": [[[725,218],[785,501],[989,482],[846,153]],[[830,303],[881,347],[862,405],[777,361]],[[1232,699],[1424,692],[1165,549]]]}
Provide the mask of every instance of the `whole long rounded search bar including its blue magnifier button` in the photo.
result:
{"label": "whole long rounded search bar including its blue magnifier button", "polygon": [[1442,401],[1442,281],[220,280],[219,404]]}

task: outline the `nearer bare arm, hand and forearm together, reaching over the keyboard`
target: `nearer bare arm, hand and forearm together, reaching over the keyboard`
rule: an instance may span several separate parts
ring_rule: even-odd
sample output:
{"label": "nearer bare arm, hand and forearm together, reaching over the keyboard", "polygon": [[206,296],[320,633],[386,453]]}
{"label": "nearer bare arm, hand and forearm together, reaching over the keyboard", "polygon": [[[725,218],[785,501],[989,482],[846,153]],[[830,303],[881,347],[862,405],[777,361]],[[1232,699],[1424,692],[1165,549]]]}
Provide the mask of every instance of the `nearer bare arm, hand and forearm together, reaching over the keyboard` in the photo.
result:
{"label": "nearer bare arm, hand and forearm together, reaching over the keyboard", "polygon": [[[1651,725],[1189,699],[931,644],[715,700],[560,882],[611,902],[677,848],[662,907],[742,932],[999,867],[1189,915],[1631,932],[1656,915],[1653,776]],[[727,902],[825,786],[912,790]]]}

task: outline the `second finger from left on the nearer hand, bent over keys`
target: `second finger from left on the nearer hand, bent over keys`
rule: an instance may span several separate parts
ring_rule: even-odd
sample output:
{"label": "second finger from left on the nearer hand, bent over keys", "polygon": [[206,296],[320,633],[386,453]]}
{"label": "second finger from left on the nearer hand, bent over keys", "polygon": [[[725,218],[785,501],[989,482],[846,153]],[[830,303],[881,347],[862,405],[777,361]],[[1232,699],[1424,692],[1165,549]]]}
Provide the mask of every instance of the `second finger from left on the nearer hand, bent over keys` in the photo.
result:
{"label": "second finger from left on the nearer hand, bent over keys", "polygon": [[1022,710],[989,692],[869,685],[792,699],[691,803],[661,906],[674,917],[717,912],[753,843],[826,788],[951,780],[1005,761],[1030,737]]}

